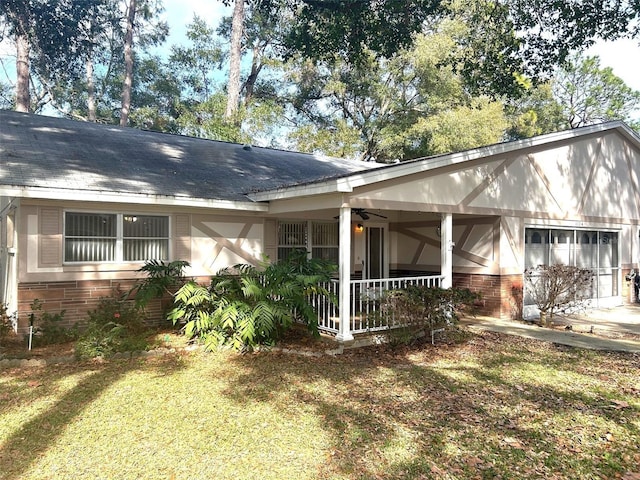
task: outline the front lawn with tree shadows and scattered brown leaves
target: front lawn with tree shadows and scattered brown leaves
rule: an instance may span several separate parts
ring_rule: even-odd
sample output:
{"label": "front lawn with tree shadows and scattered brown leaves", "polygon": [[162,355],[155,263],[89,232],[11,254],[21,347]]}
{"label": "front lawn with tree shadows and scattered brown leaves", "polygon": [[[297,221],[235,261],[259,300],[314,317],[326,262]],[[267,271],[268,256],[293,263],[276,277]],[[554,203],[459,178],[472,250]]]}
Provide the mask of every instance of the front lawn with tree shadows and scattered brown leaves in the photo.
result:
{"label": "front lawn with tree shadows and scattered brown leaves", "polygon": [[2,479],[640,478],[640,357],[485,333],[0,372]]}

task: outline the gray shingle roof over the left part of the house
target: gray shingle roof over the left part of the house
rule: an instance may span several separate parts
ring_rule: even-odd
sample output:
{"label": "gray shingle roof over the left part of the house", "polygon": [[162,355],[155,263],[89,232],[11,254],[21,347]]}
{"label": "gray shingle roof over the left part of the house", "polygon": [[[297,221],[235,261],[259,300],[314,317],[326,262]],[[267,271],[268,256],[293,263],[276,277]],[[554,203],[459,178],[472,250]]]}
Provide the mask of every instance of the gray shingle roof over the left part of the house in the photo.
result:
{"label": "gray shingle roof over the left part of the house", "polygon": [[247,201],[376,166],[0,110],[0,186]]}

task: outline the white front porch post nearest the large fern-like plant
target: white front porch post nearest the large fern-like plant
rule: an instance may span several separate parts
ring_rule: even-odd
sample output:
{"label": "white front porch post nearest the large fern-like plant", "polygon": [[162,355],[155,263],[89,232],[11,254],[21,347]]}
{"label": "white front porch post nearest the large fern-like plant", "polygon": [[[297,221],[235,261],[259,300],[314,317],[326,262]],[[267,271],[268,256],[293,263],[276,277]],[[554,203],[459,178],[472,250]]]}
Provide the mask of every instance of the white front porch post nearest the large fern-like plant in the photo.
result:
{"label": "white front porch post nearest the large fern-like plant", "polygon": [[351,333],[351,207],[340,207],[340,250],[338,302],[340,324],[336,340],[353,340]]}

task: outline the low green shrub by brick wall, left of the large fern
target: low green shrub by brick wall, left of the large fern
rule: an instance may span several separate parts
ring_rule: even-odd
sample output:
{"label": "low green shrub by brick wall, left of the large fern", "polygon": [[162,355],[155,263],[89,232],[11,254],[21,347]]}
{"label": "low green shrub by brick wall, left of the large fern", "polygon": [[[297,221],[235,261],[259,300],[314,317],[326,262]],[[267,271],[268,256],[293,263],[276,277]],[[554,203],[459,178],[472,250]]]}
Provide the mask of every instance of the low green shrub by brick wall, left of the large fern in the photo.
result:
{"label": "low green shrub by brick wall, left of the large fern", "polygon": [[87,327],[76,342],[77,357],[109,357],[117,352],[147,349],[147,329],[135,302],[121,297],[103,298],[88,315]]}

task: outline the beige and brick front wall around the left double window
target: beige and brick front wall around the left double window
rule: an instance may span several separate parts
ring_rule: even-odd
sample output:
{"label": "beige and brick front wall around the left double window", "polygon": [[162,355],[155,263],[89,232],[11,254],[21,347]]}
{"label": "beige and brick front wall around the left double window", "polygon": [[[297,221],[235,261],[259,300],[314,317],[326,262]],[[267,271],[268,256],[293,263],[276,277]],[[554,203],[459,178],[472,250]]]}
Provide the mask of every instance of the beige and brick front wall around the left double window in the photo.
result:
{"label": "beige and brick front wall around the left double window", "polygon": [[[101,298],[128,291],[143,274],[144,262],[73,263],[63,261],[64,211],[168,215],[169,261],[186,260],[187,276],[205,278],[237,263],[257,265],[264,249],[265,220],[257,214],[203,214],[202,210],[166,211],[157,207],[118,204],[22,201],[18,225],[18,330],[28,329],[31,304],[41,301],[50,313],[65,310],[65,322],[83,323]],[[155,302],[149,319],[162,319],[166,305]]]}

